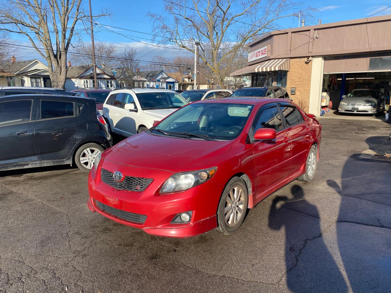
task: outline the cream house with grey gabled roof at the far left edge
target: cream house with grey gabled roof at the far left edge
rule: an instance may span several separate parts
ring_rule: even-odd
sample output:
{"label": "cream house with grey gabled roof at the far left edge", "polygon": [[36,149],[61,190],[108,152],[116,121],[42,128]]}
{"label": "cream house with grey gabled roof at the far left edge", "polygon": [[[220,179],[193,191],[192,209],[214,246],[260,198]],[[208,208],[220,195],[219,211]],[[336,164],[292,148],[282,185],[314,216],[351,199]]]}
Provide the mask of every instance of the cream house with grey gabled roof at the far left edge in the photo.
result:
{"label": "cream house with grey gabled roof at the far left edge", "polygon": [[50,88],[48,67],[38,59],[11,62],[1,68],[0,86],[37,86]]}

